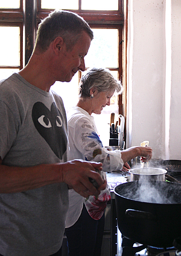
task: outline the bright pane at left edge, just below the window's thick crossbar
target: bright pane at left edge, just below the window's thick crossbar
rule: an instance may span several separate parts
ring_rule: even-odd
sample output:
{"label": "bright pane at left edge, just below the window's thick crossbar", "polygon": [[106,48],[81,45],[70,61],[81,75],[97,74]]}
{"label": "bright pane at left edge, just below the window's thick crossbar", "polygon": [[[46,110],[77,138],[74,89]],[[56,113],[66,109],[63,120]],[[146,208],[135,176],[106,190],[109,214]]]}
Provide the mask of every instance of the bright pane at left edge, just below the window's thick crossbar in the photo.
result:
{"label": "bright pane at left edge, just below the window's thick crossbar", "polygon": [[0,65],[20,65],[20,29],[19,27],[0,27]]}

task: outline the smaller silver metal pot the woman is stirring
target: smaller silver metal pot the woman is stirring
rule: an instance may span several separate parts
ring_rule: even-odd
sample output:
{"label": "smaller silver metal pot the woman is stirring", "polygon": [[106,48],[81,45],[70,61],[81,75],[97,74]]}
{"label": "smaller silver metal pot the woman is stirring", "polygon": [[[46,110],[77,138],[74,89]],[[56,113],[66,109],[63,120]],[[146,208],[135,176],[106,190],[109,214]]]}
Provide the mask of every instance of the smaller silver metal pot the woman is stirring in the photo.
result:
{"label": "smaller silver metal pot the woman is stirring", "polygon": [[130,180],[133,182],[135,180],[149,181],[158,180],[165,181],[165,174],[167,171],[161,168],[133,168],[129,170]]}

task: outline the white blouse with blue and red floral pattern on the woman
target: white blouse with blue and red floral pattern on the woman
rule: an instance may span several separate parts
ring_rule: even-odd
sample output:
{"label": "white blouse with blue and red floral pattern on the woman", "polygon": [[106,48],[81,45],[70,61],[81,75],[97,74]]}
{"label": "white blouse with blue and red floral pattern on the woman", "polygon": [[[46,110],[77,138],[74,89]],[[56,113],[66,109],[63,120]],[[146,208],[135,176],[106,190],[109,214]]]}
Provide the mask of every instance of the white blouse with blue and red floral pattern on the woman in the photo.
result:
{"label": "white blouse with blue and red floral pattern on the woman", "polygon": [[[94,117],[80,107],[73,107],[68,113],[69,160],[83,159],[103,163],[103,171],[122,169],[124,162],[121,151],[108,151],[97,133]],[[84,197],[69,189],[69,209],[66,216],[66,228],[71,227],[80,217]]]}

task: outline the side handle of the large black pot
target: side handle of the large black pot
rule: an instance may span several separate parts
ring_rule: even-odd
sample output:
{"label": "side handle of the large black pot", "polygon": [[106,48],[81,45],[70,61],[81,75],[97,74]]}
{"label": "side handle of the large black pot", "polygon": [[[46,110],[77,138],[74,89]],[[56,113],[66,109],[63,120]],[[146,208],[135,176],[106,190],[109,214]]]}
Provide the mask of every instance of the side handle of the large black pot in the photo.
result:
{"label": "side handle of the large black pot", "polygon": [[157,220],[157,217],[151,212],[138,211],[135,209],[127,209],[125,215],[130,218],[141,218],[145,220]]}

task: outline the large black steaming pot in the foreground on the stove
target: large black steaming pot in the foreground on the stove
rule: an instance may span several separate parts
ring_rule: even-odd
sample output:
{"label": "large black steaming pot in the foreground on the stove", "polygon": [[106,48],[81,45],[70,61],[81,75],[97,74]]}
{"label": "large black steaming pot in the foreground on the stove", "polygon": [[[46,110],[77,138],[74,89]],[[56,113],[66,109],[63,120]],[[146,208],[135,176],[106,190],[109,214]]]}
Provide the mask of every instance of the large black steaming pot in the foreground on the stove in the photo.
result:
{"label": "large black steaming pot in the foreground on the stove", "polygon": [[[115,187],[118,228],[124,237],[132,241],[166,248],[173,246],[174,238],[181,235],[181,185],[153,181],[150,188],[157,186],[164,195],[165,202],[157,203],[154,199],[153,202],[141,202],[139,199],[133,199],[133,195],[140,188],[140,182],[127,182]],[[168,199],[170,195],[172,199]],[[156,197],[156,194],[154,196]]]}

